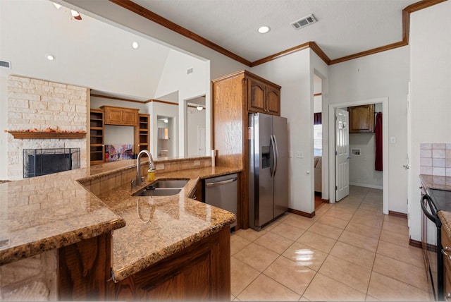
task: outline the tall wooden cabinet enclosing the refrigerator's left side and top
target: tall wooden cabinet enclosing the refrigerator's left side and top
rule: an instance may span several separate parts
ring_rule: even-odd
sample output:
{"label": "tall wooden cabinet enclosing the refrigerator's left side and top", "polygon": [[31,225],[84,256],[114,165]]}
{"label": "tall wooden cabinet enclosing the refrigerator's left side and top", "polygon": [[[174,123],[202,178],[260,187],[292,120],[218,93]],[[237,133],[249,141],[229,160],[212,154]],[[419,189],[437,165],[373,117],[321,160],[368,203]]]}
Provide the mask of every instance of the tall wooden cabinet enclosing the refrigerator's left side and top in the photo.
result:
{"label": "tall wooden cabinet enclosing the refrigerator's left side and top", "polygon": [[249,112],[280,116],[280,86],[249,71],[213,80],[213,146],[218,166],[242,169],[237,226],[249,227]]}

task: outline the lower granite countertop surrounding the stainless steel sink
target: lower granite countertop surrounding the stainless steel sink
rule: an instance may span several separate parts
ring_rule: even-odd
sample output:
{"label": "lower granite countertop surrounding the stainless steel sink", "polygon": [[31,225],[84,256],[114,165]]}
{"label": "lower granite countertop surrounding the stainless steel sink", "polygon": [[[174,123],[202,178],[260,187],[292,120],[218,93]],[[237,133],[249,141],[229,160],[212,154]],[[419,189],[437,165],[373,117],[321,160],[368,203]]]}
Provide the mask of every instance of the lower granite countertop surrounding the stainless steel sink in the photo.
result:
{"label": "lower granite countertop surrounding the stainless steel sink", "polygon": [[204,167],[156,174],[158,179],[189,179],[177,195],[132,196],[130,184],[99,195],[126,226],[113,234],[113,279],[131,274],[177,253],[235,222],[235,215],[187,196],[200,179],[232,174],[240,169]]}

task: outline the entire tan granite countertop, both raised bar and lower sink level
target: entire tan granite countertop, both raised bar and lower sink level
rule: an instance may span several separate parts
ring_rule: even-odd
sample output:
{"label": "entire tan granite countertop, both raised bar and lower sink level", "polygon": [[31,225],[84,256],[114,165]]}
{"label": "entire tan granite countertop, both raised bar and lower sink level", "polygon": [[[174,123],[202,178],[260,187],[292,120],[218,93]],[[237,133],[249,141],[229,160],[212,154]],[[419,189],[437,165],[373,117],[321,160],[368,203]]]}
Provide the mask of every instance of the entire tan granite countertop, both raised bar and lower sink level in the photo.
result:
{"label": "entire tan granite countertop, both raised bar and lower sink level", "polygon": [[190,179],[172,196],[135,197],[130,184],[98,197],[80,184],[134,167],[135,159],[0,184],[0,265],[113,231],[113,278],[125,279],[235,221],[188,198],[199,179],[240,172],[202,167],[156,173]]}

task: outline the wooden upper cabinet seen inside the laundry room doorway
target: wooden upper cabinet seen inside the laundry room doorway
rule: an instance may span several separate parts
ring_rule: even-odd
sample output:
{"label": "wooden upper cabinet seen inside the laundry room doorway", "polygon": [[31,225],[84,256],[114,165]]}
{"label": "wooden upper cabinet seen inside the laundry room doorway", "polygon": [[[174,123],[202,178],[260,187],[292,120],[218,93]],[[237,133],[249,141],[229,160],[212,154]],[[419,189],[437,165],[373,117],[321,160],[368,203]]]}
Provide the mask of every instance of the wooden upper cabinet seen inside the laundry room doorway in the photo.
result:
{"label": "wooden upper cabinet seen inside the laundry room doorway", "polygon": [[374,104],[348,107],[350,114],[350,133],[374,132]]}

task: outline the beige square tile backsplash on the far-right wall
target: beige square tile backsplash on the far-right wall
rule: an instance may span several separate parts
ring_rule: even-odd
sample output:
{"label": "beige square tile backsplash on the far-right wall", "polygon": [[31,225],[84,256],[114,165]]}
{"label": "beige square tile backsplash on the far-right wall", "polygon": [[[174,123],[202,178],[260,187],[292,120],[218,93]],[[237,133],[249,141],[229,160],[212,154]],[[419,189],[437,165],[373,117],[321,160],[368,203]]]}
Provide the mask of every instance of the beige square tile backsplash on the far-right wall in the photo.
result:
{"label": "beige square tile backsplash on the far-right wall", "polygon": [[420,174],[451,176],[451,144],[420,144]]}

